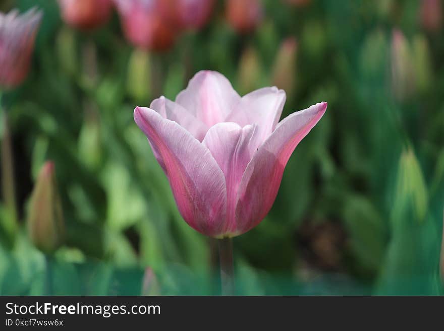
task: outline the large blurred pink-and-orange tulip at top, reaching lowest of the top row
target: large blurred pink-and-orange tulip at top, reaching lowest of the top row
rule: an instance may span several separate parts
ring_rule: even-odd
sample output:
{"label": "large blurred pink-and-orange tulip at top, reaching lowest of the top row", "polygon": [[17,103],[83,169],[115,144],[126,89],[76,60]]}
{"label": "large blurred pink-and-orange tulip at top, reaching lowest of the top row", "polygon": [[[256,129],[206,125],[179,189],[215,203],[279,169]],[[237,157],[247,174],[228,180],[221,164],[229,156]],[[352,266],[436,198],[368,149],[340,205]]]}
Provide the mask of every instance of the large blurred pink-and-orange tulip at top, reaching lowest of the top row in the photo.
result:
{"label": "large blurred pink-and-orange tulip at top, reaching lowest of the top row", "polygon": [[136,47],[166,50],[176,37],[176,29],[163,12],[165,2],[157,0],[115,0],[124,33]]}

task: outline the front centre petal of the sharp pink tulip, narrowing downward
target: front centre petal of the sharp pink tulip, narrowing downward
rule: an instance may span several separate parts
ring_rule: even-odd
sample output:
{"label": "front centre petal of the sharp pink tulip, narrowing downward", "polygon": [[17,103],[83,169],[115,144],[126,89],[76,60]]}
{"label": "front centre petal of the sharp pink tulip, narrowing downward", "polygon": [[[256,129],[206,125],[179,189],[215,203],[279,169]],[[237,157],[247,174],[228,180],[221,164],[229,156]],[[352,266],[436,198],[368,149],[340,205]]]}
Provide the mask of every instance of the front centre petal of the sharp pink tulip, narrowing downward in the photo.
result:
{"label": "front centre petal of the sharp pink tulip, narrowing downward", "polygon": [[256,138],[256,125],[246,125],[242,128],[239,124],[225,122],[212,126],[202,142],[225,175],[227,222],[223,230],[224,235],[236,233],[237,191],[245,168],[256,152]]}

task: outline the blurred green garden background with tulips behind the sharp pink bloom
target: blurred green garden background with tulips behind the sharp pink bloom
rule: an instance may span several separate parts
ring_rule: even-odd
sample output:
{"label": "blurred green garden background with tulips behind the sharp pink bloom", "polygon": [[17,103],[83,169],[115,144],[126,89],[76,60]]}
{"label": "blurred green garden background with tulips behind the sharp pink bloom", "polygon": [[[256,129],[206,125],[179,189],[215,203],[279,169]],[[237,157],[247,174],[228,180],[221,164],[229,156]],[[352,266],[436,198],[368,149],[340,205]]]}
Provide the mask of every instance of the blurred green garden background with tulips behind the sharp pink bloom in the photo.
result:
{"label": "blurred green garden background with tulips behind the sharp pink bloom", "polygon": [[328,102],[234,239],[237,294],[444,294],[444,3],[156,2],[0,1],[42,14],[0,21],[0,294],[220,293],[133,120],[203,69],[284,89],[283,117]]}

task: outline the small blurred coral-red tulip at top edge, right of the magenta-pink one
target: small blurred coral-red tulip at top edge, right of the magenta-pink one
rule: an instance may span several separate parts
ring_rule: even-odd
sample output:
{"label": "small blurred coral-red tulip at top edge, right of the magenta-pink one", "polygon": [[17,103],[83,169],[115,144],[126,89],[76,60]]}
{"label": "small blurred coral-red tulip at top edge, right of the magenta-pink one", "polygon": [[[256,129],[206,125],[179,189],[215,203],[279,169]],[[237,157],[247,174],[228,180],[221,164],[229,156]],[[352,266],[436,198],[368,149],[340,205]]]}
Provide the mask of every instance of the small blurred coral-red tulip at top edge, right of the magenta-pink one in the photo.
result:
{"label": "small blurred coral-red tulip at top edge, right of the magenta-pink one", "polygon": [[227,0],[227,20],[240,33],[254,30],[262,20],[260,0]]}

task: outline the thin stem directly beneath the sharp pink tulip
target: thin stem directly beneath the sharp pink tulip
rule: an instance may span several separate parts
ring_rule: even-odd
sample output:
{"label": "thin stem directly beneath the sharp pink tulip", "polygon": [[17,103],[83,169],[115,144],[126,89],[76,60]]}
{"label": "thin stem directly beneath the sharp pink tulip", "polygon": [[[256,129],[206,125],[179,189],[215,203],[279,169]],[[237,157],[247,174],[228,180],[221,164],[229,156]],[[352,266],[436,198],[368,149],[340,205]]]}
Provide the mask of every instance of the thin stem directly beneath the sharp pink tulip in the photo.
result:
{"label": "thin stem directly beneath the sharp pink tulip", "polygon": [[233,239],[218,239],[222,295],[234,295]]}

